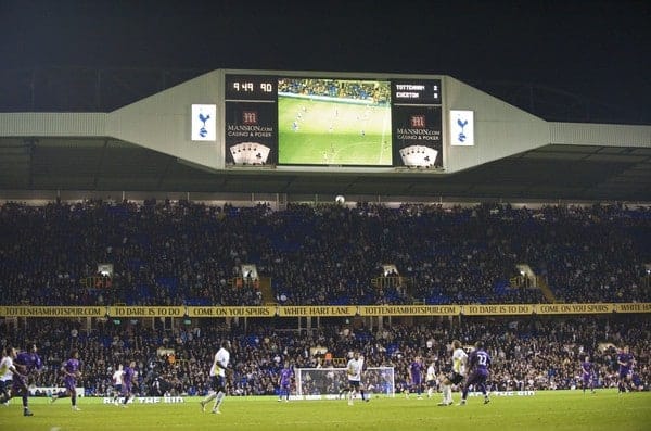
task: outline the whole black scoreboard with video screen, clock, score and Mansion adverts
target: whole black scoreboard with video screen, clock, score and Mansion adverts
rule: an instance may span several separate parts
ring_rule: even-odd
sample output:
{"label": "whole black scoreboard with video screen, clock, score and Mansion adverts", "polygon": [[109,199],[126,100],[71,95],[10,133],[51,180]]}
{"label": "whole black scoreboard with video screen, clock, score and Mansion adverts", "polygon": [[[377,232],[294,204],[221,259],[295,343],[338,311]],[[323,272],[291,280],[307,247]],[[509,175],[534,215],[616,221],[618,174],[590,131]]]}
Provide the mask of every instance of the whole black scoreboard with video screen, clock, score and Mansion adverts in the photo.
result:
{"label": "whole black scoreboard with video screen, clock, score and Mansion adverts", "polygon": [[225,74],[227,166],[442,169],[441,79]]}

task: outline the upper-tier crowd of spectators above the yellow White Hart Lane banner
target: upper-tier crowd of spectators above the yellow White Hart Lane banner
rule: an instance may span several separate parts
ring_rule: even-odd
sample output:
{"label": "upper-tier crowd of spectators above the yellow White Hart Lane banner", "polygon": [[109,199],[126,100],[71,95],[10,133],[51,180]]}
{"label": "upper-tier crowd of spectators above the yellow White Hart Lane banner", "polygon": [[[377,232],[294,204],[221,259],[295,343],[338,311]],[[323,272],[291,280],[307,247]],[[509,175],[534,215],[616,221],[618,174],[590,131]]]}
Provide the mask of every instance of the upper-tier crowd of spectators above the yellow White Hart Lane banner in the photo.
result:
{"label": "upper-tier crowd of spectators above the yellow White Hart Lane banner", "polygon": [[[512,286],[525,263],[560,302],[649,302],[651,211],[360,203],[0,206],[2,304],[261,305],[242,264],[284,305],[549,302]],[[111,287],[82,282],[113,264]],[[400,284],[373,282],[394,264]]]}

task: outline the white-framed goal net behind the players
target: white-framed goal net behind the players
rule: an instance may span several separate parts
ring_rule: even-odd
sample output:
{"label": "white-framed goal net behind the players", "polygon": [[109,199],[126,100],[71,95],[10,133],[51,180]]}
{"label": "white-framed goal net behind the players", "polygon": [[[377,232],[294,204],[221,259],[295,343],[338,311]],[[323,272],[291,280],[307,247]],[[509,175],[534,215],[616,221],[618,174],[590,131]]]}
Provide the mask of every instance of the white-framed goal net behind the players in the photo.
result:
{"label": "white-framed goal net behind the players", "polygon": [[[296,368],[296,396],[302,400],[336,400],[348,389],[346,368]],[[361,385],[375,396],[395,396],[393,367],[368,367]]]}

